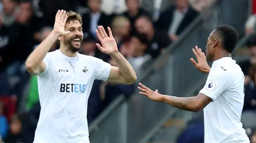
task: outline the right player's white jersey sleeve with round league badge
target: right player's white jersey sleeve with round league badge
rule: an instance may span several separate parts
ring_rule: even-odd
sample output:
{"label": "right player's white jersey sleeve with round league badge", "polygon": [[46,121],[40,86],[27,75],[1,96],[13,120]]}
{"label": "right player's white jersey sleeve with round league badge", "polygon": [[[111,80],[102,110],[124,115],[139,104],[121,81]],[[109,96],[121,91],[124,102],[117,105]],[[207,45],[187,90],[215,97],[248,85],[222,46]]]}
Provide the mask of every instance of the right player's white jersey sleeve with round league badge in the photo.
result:
{"label": "right player's white jersey sleeve with round league badge", "polygon": [[231,86],[231,83],[228,71],[224,71],[220,67],[219,70],[214,70],[212,73],[210,72],[204,88],[202,88],[199,93],[202,93],[215,101],[222,92]]}

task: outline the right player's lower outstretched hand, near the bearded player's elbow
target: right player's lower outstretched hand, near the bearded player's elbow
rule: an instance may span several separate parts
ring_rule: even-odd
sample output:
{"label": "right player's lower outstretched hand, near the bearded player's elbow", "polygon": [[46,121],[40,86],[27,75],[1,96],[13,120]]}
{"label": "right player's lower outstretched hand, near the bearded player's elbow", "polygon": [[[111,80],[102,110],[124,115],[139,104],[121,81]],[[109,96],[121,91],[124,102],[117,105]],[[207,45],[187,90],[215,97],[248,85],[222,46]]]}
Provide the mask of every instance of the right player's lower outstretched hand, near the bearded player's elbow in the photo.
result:
{"label": "right player's lower outstretched hand, near the bearded player's elbow", "polygon": [[138,89],[142,91],[142,92],[139,92],[140,94],[147,96],[149,99],[153,101],[160,102],[163,99],[164,95],[158,93],[157,89],[153,91],[147,86],[144,86],[142,83],[139,83]]}

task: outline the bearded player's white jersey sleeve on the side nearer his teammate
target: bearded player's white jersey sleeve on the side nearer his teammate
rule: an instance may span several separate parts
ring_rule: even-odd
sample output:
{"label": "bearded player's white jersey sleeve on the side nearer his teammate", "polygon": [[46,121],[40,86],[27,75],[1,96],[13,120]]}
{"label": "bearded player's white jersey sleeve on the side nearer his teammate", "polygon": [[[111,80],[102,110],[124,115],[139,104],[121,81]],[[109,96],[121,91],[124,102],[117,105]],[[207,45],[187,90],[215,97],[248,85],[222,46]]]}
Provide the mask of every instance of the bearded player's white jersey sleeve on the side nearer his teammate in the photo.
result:
{"label": "bearded player's white jersey sleeve on the side nearer his teammate", "polygon": [[109,63],[106,63],[102,61],[102,59],[98,59],[96,57],[92,57],[93,65],[95,66],[95,78],[98,80],[106,81],[108,80],[111,65]]}

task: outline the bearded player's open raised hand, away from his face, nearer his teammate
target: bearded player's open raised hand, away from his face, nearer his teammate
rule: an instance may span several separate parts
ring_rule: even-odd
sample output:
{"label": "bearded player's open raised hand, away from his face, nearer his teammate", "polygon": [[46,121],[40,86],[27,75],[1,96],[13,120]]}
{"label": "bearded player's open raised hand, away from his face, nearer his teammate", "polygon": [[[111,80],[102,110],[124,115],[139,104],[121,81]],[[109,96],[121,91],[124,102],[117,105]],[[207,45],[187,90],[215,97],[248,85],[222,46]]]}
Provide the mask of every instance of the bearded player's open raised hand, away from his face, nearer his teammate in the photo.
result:
{"label": "bearded player's open raised hand, away from his face, nearer his teammate", "polygon": [[102,51],[102,53],[111,55],[113,53],[118,52],[118,48],[117,48],[116,40],[112,35],[112,31],[110,27],[108,27],[108,33],[109,33],[109,36],[106,33],[103,26],[98,26],[98,29],[96,30],[96,34],[102,46],[100,46],[100,44],[98,43],[96,45],[98,49]]}

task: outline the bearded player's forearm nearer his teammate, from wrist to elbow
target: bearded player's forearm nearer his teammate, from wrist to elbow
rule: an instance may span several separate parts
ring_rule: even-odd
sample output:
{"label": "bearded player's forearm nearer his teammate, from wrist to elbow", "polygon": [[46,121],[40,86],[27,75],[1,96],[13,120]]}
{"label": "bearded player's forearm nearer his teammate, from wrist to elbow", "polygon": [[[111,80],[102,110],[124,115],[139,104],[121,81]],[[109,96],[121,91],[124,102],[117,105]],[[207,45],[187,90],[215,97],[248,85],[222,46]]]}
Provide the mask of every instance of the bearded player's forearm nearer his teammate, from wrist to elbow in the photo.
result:
{"label": "bearded player's forearm nearer his teammate, from wrist to elbow", "polygon": [[110,56],[117,63],[123,78],[132,82],[137,79],[134,69],[121,53],[116,52]]}

